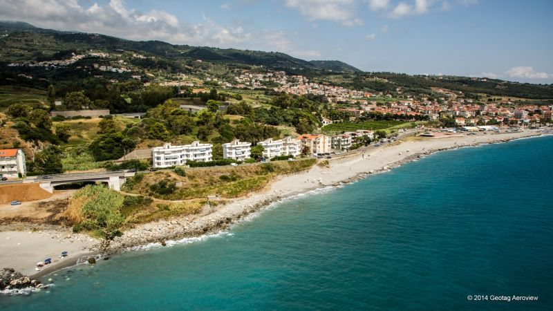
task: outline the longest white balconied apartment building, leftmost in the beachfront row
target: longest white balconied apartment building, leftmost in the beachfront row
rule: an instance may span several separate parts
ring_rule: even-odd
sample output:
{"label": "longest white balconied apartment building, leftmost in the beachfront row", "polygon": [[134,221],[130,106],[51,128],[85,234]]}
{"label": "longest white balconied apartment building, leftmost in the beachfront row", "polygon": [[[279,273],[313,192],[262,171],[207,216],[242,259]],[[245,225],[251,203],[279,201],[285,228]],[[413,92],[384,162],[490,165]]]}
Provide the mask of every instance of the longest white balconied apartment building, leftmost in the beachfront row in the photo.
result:
{"label": "longest white balconied apartment building, leftmost in the beachfront row", "polygon": [[192,142],[182,146],[172,146],[170,142],[163,147],[151,149],[153,167],[174,167],[184,165],[187,161],[208,162],[213,159],[212,144]]}

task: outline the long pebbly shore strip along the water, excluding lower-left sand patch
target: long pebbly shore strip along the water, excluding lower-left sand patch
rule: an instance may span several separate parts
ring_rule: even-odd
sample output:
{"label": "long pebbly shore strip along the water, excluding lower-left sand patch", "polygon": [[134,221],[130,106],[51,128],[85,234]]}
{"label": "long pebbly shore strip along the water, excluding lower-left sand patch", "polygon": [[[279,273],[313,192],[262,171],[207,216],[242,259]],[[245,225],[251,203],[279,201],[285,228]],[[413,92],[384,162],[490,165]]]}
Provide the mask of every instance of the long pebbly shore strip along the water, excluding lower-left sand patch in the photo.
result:
{"label": "long pebbly shore strip along the water, excluding lower-left sand patch", "polygon": [[[500,133],[478,136],[455,136],[440,139],[423,139],[418,141],[404,141],[386,145],[384,147],[365,147],[352,153],[328,160],[327,167],[315,164],[306,171],[286,176],[279,176],[272,180],[265,189],[242,198],[236,198],[225,205],[219,205],[205,215],[180,216],[169,220],[159,220],[127,229],[124,235],[111,241],[104,251],[94,251],[97,245],[89,247],[87,251],[73,254],[62,262],[44,268],[40,272],[30,274],[32,279],[42,279],[48,274],[73,267],[79,264],[82,258],[89,256],[111,256],[129,252],[135,249],[163,247],[164,244],[175,245],[188,238],[207,238],[214,234],[221,234],[232,225],[240,223],[245,217],[284,200],[294,199],[294,196],[308,194],[311,191],[328,187],[339,187],[367,176],[390,171],[406,163],[420,160],[432,153],[449,151],[465,147],[478,147],[485,144],[497,144],[523,138],[542,136],[536,131],[516,133]],[[406,136],[408,137],[408,136]],[[470,144],[460,140],[474,141]],[[427,147],[431,147],[428,148]],[[0,232],[1,233],[1,232]],[[97,244],[97,243],[95,243]],[[84,259],[86,261],[86,259]]]}

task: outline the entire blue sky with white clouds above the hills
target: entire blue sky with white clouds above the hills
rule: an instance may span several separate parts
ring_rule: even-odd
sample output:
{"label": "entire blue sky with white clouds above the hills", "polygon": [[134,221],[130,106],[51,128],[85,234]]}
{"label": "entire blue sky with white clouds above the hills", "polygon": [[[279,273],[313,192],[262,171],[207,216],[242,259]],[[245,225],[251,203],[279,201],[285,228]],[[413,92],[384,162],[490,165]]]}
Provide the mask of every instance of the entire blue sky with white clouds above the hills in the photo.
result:
{"label": "entire blue sky with white clouds above the hills", "polygon": [[553,83],[552,0],[0,0],[0,20],[366,71]]}

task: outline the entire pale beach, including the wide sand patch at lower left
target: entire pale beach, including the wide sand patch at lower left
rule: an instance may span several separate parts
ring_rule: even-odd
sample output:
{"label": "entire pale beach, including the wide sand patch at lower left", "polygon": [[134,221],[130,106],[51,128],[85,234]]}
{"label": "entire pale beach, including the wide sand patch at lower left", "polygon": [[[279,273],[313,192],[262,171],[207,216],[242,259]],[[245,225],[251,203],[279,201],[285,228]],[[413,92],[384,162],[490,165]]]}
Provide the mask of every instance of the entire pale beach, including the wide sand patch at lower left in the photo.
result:
{"label": "entire pale beach, including the wide sand patch at lower left", "polygon": [[[272,202],[289,198],[313,189],[351,182],[373,173],[387,171],[401,164],[416,160],[435,151],[477,146],[539,135],[536,131],[516,133],[478,133],[447,138],[400,138],[383,147],[365,147],[339,157],[322,159],[326,165],[315,165],[308,171],[282,176],[271,182],[263,191],[238,198],[225,205],[216,205],[209,213],[162,220],[127,229],[124,235],[115,238],[107,253],[122,252],[133,247],[162,241],[178,241],[182,238],[214,234],[227,229],[244,216],[258,211]],[[44,276],[67,265],[73,265],[79,256],[97,251],[97,241],[88,236],[73,234],[59,229],[30,232],[24,229],[2,229],[0,232],[0,267],[13,267],[30,276]],[[69,256],[59,259],[66,251]],[[35,264],[44,258],[52,258],[53,265],[44,272],[35,271]]]}

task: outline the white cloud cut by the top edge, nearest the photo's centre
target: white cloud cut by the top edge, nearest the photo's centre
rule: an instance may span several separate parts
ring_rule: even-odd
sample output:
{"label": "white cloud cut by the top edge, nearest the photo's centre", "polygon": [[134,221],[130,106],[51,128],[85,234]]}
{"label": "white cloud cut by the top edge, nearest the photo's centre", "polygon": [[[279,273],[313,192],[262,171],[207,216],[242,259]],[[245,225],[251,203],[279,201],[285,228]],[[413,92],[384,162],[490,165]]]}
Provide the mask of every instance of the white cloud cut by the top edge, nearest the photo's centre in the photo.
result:
{"label": "white cloud cut by the top edge, nearest the photo's centre", "polygon": [[355,17],[355,0],[285,0],[285,6],[299,10],[309,21],[326,20],[343,26],[361,26]]}

